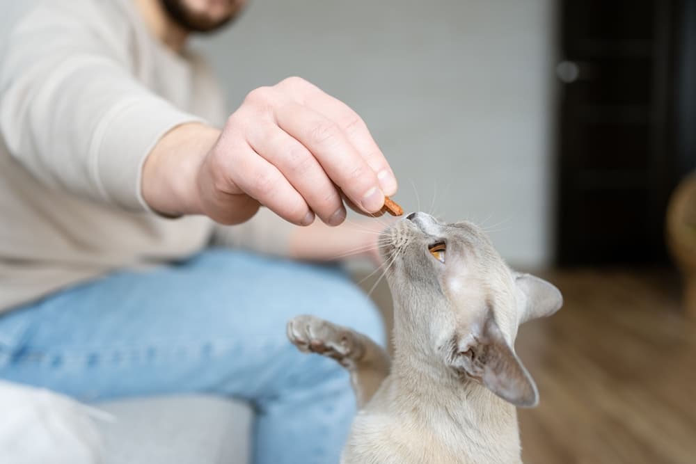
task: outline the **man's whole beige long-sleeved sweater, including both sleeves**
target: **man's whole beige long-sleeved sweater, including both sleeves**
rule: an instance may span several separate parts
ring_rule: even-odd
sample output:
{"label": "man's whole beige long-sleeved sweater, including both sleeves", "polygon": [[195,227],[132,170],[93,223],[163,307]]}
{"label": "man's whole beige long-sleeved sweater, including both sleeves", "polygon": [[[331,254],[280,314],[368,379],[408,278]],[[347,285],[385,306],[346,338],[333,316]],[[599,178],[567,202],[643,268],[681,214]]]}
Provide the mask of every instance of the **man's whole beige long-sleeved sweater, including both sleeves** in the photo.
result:
{"label": "man's whole beige long-sleeved sweater, including both sleeves", "polygon": [[292,226],[267,211],[221,227],[143,202],[141,167],[158,139],[226,113],[203,60],[161,45],[131,1],[0,2],[0,311],[189,256],[214,236],[285,248]]}

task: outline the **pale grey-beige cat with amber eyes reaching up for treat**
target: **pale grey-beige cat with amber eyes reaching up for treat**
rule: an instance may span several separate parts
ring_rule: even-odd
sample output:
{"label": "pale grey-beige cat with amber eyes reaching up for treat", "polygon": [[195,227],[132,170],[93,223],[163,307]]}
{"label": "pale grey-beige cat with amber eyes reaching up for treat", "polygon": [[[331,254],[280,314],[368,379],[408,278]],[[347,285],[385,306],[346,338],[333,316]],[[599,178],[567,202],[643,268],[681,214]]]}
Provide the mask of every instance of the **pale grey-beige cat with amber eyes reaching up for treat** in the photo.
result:
{"label": "pale grey-beige cat with amber eyes reaching up for treat", "polygon": [[520,464],[515,406],[537,387],[513,346],[521,323],[562,305],[560,291],[507,266],[486,234],[418,212],[384,232],[394,299],[393,359],[354,330],[295,317],[301,351],[350,373],[358,415],[342,464]]}

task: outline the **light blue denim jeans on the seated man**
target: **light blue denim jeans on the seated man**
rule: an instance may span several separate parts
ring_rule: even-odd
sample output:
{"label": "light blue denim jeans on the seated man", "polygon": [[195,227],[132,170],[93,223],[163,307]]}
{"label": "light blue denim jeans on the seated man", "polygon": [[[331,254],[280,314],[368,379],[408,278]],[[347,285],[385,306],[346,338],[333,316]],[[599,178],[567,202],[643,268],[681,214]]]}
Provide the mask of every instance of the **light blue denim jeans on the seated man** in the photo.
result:
{"label": "light blue denim jeans on the seated man", "polygon": [[205,392],[257,411],[254,463],[338,463],[355,413],[347,373],[295,349],[315,314],[383,342],[370,300],[338,269],[213,249],[123,271],[0,317],[0,378],[82,401]]}

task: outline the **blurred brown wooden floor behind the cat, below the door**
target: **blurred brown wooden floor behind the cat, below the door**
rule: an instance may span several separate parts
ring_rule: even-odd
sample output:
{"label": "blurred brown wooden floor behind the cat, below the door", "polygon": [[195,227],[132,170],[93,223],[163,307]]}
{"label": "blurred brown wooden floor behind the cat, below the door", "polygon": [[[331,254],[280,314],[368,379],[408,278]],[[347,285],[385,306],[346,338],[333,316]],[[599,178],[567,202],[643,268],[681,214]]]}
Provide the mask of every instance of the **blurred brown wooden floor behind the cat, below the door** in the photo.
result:
{"label": "blurred brown wooden floor behind the cat, below the door", "polygon": [[[517,352],[541,401],[519,410],[525,464],[696,463],[696,321],[670,271],[560,271],[555,316]],[[389,306],[388,290],[374,298]]]}

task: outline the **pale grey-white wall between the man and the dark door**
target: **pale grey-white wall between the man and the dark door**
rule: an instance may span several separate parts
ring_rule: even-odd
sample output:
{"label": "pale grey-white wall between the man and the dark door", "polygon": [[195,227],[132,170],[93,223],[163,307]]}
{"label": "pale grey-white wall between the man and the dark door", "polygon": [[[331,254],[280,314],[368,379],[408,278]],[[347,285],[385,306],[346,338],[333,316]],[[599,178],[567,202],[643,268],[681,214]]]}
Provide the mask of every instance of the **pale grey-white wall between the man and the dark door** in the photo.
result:
{"label": "pale grey-white wall between the man and the dark door", "polygon": [[[360,113],[395,200],[491,227],[510,262],[551,257],[553,0],[252,0],[202,41],[230,109],[290,75]],[[420,206],[412,184],[420,195]]]}

